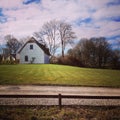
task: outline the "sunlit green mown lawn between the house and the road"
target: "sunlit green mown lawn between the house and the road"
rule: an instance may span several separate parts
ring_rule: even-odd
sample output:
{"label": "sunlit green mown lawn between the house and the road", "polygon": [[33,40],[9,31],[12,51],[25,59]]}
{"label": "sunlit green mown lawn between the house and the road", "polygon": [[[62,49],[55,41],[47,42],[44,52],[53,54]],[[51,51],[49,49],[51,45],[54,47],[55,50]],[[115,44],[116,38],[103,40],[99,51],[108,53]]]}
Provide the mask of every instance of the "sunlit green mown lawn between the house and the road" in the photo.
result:
{"label": "sunlit green mown lawn between the house and the road", "polygon": [[57,84],[120,87],[120,70],[52,64],[0,65],[0,84]]}

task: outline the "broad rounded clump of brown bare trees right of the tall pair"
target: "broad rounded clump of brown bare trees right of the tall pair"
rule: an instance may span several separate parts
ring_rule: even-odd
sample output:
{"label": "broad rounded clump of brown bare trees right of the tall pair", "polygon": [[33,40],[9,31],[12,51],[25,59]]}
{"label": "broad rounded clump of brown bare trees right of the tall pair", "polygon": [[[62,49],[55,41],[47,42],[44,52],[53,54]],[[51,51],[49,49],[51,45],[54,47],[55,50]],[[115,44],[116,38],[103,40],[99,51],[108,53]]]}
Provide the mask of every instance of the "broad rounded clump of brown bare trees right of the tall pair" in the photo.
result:
{"label": "broad rounded clump of brown bare trees right of the tall pair", "polygon": [[110,45],[104,37],[81,39],[79,43],[69,51],[86,67],[104,67],[110,59]]}

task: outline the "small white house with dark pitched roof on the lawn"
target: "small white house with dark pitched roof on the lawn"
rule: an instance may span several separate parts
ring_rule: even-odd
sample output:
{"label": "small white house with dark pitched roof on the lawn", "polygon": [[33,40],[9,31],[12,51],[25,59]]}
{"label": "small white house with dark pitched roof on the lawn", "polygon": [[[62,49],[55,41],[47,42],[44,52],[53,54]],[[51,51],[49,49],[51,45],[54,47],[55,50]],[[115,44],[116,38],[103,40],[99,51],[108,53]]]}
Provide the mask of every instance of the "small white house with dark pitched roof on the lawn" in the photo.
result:
{"label": "small white house with dark pitched roof on the lawn", "polygon": [[20,63],[49,63],[49,49],[31,37],[18,51]]}

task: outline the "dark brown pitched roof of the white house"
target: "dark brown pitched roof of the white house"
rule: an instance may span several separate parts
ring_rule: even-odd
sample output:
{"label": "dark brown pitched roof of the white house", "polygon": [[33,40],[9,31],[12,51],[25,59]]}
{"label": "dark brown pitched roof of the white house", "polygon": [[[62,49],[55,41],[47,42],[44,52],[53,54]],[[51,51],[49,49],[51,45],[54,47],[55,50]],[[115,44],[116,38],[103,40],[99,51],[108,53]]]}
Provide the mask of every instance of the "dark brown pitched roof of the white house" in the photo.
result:
{"label": "dark brown pitched roof of the white house", "polygon": [[34,37],[31,37],[18,51],[20,53],[22,49],[28,44],[28,43],[36,43],[43,51],[45,54],[50,55],[49,48],[46,48],[45,45],[39,43]]}

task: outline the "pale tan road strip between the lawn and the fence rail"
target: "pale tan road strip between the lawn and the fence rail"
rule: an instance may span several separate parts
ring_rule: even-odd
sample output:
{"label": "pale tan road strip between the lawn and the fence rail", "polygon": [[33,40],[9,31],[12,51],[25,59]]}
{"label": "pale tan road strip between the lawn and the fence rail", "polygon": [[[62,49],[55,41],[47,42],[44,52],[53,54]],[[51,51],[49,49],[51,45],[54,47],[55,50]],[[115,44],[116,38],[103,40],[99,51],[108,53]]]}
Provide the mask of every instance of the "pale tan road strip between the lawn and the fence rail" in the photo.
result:
{"label": "pale tan road strip between the lawn and the fence rail", "polygon": [[0,85],[0,94],[45,94],[45,95],[105,95],[120,96],[120,88],[105,87],[66,87],[38,85]]}

